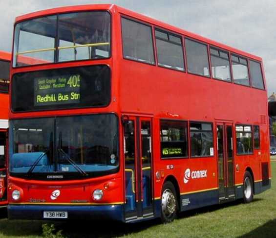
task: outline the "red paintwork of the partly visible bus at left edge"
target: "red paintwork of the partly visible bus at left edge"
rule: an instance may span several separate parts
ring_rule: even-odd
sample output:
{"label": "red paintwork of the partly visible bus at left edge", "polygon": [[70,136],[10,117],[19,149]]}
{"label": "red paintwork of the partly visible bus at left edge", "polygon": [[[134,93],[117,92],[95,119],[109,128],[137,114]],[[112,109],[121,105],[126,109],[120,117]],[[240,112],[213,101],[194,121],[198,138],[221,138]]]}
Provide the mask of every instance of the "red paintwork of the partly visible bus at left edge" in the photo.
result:
{"label": "red paintwork of the partly visible bus at left edge", "polygon": [[[0,60],[3,61],[11,61],[11,53],[6,52],[6,51],[0,51]],[[9,108],[9,95],[8,94],[3,94],[0,93],[0,119],[8,119],[8,108]],[[0,132],[7,133],[7,129],[0,128]],[[6,144],[7,141],[6,141]],[[6,155],[8,154],[8,146],[6,146]],[[6,170],[6,174],[8,174],[8,160],[6,156],[6,168],[1,168],[0,170]],[[7,180],[6,178],[4,179],[4,183],[2,184],[3,186],[0,185],[0,190],[2,192],[7,189]],[[5,201],[0,201],[0,207],[1,206],[6,206],[8,204],[8,200]]]}

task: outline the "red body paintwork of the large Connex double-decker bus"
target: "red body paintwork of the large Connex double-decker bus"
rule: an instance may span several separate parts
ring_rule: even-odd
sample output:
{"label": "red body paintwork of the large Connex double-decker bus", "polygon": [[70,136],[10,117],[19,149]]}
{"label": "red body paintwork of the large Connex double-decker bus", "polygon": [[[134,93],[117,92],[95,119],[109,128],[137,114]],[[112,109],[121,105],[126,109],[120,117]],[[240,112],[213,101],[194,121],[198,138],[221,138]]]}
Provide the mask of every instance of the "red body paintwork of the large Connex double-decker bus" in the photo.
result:
{"label": "red body paintwork of the large Connex double-decker bus", "polygon": [[[232,53],[240,54],[244,57],[259,61],[261,64],[262,59],[116,5],[84,5],[44,10],[18,17],[16,23],[49,14],[94,9],[108,9],[112,16],[112,57],[110,59],[23,67],[12,69],[11,75],[17,72],[56,69],[77,65],[107,64],[112,70],[111,103],[105,108],[44,111],[34,113],[12,113],[10,111],[9,118],[35,118],[103,112],[115,112],[118,114],[119,118],[122,114],[153,118],[152,148],[154,151],[152,176],[155,198],[160,198],[162,185],[165,178],[169,175],[172,175],[177,179],[181,193],[218,188],[215,121],[226,121],[232,122],[233,124],[256,124],[260,126],[261,149],[255,149],[254,155],[237,156],[234,136],[234,167],[237,164],[240,167],[239,171],[235,170],[234,177],[235,184],[242,184],[244,171],[247,167],[250,167],[254,173],[255,181],[261,180],[261,162],[269,162],[270,158],[267,92],[251,87],[236,85],[234,83],[214,80],[212,78],[192,75],[187,72],[173,71],[123,59],[120,14],[168,29],[178,34],[182,34],[183,36],[194,38],[212,46],[223,48]],[[187,69],[187,65],[185,68]],[[264,115],[264,122],[261,121],[260,115]],[[213,122],[214,156],[210,158],[161,160],[159,129],[159,120],[161,118]],[[235,135],[234,131],[233,133]],[[258,152],[260,152],[260,155]],[[70,203],[73,199],[90,199],[89,202],[95,202],[91,200],[91,192],[94,189],[103,189],[106,182],[114,179],[114,183],[117,183],[116,185],[114,184],[114,190],[110,190],[110,193],[106,192],[104,200],[99,201],[98,203],[124,202],[124,154],[121,123],[120,158],[120,171],[114,175],[87,179],[85,181],[79,180],[67,182],[27,181],[10,177],[9,191],[11,192],[13,188],[20,187],[24,192],[24,196],[20,201],[22,203],[27,203],[30,198],[43,198],[46,202],[51,202],[53,204]],[[167,165],[173,165],[174,168],[167,169]],[[188,184],[184,184],[183,176],[186,168],[190,168],[191,170],[207,169],[208,176],[207,178],[194,179]],[[161,171],[162,174],[164,174],[164,177],[162,177],[160,181],[156,181],[155,178],[155,173],[157,171]],[[271,177],[271,175],[269,176]],[[53,201],[50,200],[50,193],[55,190],[55,188],[61,188],[64,195]],[[10,200],[10,202],[14,203],[15,201]]]}

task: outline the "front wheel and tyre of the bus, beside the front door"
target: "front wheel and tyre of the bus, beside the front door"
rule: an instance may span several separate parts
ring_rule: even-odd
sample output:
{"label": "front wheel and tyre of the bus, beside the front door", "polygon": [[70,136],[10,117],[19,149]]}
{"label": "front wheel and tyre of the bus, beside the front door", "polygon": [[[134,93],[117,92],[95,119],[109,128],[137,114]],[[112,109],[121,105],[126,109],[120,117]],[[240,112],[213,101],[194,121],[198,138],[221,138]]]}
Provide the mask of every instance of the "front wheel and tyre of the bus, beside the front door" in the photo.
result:
{"label": "front wheel and tyre of the bus, beside the front door", "polygon": [[174,220],[178,211],[176,191],[170,181],[165,182],[161,195],[161,221],[169,223]]}

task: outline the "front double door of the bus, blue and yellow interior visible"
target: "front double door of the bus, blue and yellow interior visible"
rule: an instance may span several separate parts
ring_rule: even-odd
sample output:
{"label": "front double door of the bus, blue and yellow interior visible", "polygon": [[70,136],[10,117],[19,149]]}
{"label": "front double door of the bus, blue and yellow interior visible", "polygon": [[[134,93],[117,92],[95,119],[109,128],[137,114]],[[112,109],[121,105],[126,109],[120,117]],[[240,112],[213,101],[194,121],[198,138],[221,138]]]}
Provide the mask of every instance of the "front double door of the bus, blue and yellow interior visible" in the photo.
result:
{"label": "front double door of the bus, blue and yellow interior visible", "polygon": [[[126,119],[127,118],[127,119]],[[151,119],[124,116],[126,221],[153,216]]]}

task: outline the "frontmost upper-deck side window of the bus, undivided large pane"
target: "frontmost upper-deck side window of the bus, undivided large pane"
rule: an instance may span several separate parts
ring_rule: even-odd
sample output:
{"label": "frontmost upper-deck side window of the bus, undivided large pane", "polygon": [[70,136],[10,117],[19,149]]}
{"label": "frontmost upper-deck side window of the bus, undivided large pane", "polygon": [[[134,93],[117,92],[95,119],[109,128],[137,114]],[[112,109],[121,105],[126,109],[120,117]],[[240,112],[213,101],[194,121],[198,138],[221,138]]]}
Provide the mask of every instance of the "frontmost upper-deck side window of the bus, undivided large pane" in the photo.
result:
{"label": "frontmost upper-deck side window of the bus, undivided large pane", "polygon": [[122,17],[124,58],[155,64],[151,27]]}

